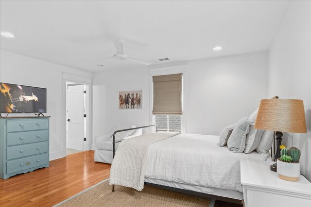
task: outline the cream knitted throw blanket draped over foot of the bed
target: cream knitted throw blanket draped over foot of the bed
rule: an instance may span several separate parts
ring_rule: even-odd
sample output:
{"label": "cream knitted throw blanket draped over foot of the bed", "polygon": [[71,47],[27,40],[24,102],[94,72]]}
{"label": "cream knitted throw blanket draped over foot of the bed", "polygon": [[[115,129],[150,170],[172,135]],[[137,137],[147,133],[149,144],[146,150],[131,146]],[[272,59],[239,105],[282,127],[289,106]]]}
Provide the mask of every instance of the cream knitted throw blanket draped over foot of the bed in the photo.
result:
{"label": "cream knitted throw blanket draped over foot of the bed", "polygon": [[111,164],[109,184],[141,191],[144,188],[148,147],[177,134],[180,132],[155,132],[122,141]]}

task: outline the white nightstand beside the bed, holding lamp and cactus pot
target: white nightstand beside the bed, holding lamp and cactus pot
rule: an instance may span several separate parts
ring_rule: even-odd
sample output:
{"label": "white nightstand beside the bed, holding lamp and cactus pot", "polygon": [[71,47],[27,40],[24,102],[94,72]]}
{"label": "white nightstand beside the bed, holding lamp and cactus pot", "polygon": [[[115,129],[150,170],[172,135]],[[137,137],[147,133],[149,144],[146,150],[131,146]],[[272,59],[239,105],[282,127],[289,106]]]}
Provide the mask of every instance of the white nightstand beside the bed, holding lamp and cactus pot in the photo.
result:
{"label": "white nightstand beside the bed, holding lamp and cactus pot", "polygon": [[279,179],[270,161],[241,159],[241,184],[245,207],[311,207],[311,183]]}

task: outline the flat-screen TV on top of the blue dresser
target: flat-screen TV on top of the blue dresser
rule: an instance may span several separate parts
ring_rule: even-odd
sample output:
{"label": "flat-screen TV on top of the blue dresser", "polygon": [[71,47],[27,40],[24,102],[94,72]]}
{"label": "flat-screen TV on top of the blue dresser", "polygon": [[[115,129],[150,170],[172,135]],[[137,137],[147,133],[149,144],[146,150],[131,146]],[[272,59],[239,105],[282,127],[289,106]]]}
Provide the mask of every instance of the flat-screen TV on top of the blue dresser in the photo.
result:
{"label": "flat-screen TV on top of the blue dresser", "polygon": [[0,82],[1,113],[47,112],[47,89]]}

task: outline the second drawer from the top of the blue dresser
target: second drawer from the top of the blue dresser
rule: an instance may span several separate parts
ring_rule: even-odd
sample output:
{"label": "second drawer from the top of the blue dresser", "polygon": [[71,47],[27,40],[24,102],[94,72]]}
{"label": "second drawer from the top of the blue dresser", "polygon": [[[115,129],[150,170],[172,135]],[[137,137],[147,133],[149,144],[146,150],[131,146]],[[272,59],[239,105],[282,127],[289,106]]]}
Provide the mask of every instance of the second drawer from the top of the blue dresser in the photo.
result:
{"label": "second drawer from the top of the blue dresser", "polygon": [[6,134],[7,146],[25,143],[35,143],[49,140],[49,130],[13,132]]}

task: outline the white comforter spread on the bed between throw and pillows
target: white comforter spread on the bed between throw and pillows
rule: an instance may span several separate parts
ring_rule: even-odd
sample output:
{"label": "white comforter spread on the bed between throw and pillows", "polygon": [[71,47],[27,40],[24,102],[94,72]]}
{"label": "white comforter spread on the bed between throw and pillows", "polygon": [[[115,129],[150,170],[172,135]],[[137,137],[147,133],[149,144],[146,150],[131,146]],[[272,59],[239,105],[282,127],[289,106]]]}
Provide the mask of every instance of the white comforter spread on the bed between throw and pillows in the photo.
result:
{"label": "white comforter spread on the bed between throw and pillows", "polygon": [[270,154],[233,153],[216,146],[218,136],[179,134],[149,146],[145,177],[242,192],[240,159]]}

